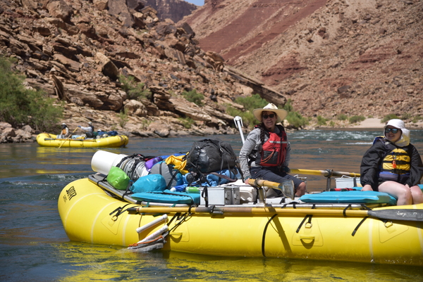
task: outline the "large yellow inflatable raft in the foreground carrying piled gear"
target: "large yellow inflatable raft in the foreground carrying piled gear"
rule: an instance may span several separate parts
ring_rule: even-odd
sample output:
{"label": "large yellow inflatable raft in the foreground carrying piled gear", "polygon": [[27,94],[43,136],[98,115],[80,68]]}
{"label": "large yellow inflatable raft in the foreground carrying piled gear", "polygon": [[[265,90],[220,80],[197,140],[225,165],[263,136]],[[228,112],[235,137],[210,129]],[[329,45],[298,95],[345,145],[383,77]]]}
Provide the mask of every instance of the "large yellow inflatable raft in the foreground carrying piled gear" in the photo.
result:
{"label": "large yellow inflatable raft in the foreground carrying piled gear", "polygon": [[58,205],[71,241],[137,250],[164,233],[163,250],[202,255],[423,266],[423,204],[145,203],[93,174],[63,188]]}

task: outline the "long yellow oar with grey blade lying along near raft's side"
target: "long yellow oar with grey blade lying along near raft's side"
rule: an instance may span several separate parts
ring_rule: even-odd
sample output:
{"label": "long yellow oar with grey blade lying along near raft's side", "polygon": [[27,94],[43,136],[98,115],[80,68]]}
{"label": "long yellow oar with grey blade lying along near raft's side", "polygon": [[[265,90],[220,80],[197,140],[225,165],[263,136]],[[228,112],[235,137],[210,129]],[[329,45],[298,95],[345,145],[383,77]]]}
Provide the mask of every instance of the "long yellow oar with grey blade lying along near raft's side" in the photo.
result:
{"label": "long yellow oar with grey blade lying along near raft's side", "polygon": [[128,212],[138,213],[176,213],[190,212],[192,214],[316,214],[336,217],[373,217],[376,219],[398,220],[406,222],[423,222],[423,210],[419,209],[386,209],[386,210],[329,210],[329,209],[297,209],[282,207],[130,207]]}

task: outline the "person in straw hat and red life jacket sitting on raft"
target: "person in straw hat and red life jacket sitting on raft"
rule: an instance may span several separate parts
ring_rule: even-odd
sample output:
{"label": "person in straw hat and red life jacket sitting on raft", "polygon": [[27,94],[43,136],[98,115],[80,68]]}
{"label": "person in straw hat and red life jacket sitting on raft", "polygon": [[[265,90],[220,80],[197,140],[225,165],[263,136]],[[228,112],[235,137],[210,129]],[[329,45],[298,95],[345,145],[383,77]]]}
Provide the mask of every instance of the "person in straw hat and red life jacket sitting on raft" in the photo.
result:
{"label": "person in straw hat and red life jacket sitting on raft", "polygon": [[[278,183],[292,180],[295,196],[304,195],[305,182],[288,174],[290,144],[283,126],[276,124],[282,122],[288,112],[269,103],[264,108],[253,110],[252,113],[261,123],[248,134],[243,148],[240,150],[240,167],[245,183],[248,184],[250,178]],[[281,191],[273,189],[273,191],[267,191],[266,197],[280,194]]]}

